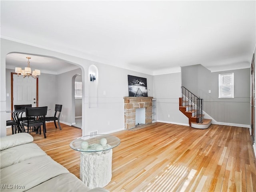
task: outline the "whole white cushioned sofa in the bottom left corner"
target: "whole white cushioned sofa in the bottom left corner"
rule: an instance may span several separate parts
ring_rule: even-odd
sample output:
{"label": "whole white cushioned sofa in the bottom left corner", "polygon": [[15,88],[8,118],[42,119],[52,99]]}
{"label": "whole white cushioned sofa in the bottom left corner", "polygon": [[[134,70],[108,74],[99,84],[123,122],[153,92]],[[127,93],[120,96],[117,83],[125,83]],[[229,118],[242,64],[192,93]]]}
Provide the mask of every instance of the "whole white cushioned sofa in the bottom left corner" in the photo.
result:
{"label": "whole white cushioned sofa in the bottom left corner", "polygon": [[108,192],[90,189],[48,156],[28,133],[0,138],[0,191]]}

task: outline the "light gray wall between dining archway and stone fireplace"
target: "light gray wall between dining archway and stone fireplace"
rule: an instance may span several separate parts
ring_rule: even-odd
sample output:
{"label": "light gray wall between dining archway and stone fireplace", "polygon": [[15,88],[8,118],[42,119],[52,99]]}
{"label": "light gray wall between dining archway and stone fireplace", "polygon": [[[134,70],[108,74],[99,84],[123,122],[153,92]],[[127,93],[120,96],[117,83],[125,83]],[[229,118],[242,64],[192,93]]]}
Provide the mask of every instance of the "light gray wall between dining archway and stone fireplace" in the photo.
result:
{"label": "light gray wall between dining archway and stone fireplace", "polygon": [[[89,108],[87,95],[86,127],[92,131],[98,130],[99,133],[123,130],[124,96],[128,96],[128,75],[147,78],[150,90],[148,96],[153,96],[153,76],[101,63],[94,65],[98,68],[98,103],[96,108]],[[86,87],[85,89],[87,90]]]}

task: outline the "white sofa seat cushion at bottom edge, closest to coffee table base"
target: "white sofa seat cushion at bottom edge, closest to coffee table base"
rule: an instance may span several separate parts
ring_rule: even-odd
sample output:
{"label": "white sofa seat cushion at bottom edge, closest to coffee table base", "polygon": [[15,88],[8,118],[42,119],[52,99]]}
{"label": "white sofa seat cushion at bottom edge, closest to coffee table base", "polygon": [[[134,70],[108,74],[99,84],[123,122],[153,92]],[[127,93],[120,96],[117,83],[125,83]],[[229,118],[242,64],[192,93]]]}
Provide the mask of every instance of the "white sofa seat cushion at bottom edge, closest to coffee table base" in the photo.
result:
{"label": "white sofa seat cushion at bottom edge, closest to coffee table base", "polygon": [[38,186],[31,188],[28,191],[33,192],[86,192],[90,190],[81,180],[79,180],[72,173],[64,173],[59,176],[56,176]]}

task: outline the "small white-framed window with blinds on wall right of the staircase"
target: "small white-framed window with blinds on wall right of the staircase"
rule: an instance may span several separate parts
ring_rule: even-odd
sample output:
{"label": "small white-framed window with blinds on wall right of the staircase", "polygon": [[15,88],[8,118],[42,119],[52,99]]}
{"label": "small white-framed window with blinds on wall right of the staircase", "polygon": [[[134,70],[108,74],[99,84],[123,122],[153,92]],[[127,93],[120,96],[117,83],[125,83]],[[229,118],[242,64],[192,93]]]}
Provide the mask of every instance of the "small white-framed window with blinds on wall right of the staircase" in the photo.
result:
{"label": "small white-framed window with blinds on wall right of the staircase", "polygon": [[234,98],[234,73],[219,74],[219,98]]}

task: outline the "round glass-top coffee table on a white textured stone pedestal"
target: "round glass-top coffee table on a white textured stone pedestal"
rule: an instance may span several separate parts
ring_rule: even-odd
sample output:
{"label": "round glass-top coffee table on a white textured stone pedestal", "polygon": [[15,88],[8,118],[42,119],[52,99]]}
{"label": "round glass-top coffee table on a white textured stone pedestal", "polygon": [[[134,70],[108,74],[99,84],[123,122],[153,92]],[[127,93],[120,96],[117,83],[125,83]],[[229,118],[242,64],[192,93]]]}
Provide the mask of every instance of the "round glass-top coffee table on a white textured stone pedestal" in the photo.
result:
{"label": "round glass-top coffee table on a white textured stone pedestal", "polygon": [[87,135],[70,142],[80,151],[80,180],[90,188],[104,187],[112,178],[112,148],[120,139],[112,135]]}

